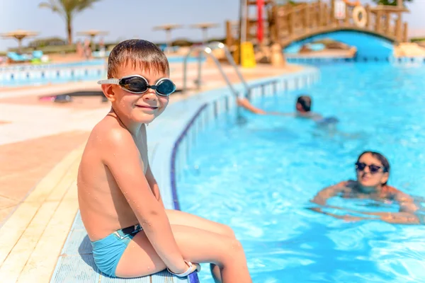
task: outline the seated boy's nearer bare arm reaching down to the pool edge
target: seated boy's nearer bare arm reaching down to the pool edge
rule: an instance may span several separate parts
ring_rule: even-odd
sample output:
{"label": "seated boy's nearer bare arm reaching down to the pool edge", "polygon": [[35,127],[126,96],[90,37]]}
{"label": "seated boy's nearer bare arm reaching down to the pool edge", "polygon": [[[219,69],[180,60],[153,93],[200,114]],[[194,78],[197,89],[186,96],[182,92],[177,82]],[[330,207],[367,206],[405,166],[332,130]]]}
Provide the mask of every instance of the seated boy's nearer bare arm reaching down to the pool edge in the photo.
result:
{"label": "seated boy's nearer bare arm reaching down to the pool edge", "polygon": [[101,142],[105,147],[103,163],[108,166],[132,211],[145,231],[149,242],[172,272],[188,270],[164,207],[157,201],[143,173],[140,152],[131,134],[112,129]]}

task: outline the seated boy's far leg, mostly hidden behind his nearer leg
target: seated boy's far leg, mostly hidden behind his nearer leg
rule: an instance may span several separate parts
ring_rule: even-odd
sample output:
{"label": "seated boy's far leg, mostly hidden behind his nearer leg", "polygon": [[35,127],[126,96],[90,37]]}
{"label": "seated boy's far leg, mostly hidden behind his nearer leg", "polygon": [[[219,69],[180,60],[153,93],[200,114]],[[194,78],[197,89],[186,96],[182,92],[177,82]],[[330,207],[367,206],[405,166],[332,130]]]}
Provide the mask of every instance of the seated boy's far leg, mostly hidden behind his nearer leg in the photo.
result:
{"label": "seated boy's far leg, mostly hidden behind his nearer leg", "polygon": [[[205,231],[219,233],[223,236],[235,238],[234,232],[229,226],[217,223],[215,221],[210,221],[200,216],[189,214],[187,212],[181,212],[179,210],[174,209],[166,209],[166,216],[168,217],[171,225],[191,226],[198,229],[203,229]],[[220,267],[211,264],[210,269],[212,277],[214,277],[215,283],[222,282]]]}

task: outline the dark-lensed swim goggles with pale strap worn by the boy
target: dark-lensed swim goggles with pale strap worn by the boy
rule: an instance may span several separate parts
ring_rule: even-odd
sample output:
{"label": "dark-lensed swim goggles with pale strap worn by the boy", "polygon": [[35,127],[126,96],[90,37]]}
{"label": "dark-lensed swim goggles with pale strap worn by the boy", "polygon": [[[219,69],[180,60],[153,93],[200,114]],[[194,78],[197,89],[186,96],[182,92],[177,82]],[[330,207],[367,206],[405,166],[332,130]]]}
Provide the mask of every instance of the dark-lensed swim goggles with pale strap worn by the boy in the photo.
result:
{"label": "dark-lensed swim goggles with pale strap worn by the boy", "polygon": [[129,93],[145,93],[148,88],[153,89],[159,96],[169,96],[176,91],[176,85],[171,79],[159,79],[153,86],[149,86],[147,79],[139,75],[124,76],[121,79],[106,79],[98,84],[117,84]]}

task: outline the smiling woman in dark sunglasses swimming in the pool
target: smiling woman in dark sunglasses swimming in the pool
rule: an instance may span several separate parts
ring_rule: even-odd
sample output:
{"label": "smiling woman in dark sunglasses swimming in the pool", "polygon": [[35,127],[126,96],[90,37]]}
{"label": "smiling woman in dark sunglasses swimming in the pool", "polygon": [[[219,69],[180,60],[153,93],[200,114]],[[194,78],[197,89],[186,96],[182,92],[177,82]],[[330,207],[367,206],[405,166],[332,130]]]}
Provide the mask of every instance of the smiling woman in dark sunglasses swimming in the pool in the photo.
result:
{"label": "smiling woman in dark sunglasses swimming in the pool", "polygon": [[[356,162],[357,180],[347,180],[330,187],[326,187],[314,196],[312,202],[330,207],[326,204],[331,197],[340,196],[344,198],[369,199],[384,202],[397,202],[399,204],[399,212],[356,212],[379,216],[380,220],[399,223],[399,224],[419,224],[419,218],[414,213],[418,207],[414,204],[414,200],[409,195],[397,190],[395,187],[387,185],[390,177],[390,163],[382,154],[375,151],[365,151],[358,156]],[[343,209],[341,207],[331,207]],[[347,220],[376,219],[370,217],[357,216],[341,216],[324,212],[321,208],[311,208],[315,212],[328,214],[336,218]],[[350,209],[343,209],[353,212]]]}

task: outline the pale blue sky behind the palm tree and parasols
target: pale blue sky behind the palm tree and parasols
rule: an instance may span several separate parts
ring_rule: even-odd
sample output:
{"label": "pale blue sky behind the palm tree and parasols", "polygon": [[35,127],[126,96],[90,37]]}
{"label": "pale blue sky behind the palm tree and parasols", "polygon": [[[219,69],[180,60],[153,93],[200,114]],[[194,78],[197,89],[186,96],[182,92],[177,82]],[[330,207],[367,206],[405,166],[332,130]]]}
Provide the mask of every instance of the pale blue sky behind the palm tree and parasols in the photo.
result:
{"label": "pale blue sky behind the palm tree and parasols", "polygon": [[[326,1],[326,0],[325,0]],[[41,0],[1,0],[0,33],[25,29],[40,32],[39,37],[59,36],[66,38],[65,24],[57,13],[38,8]],[[370,0],[363,0],[368,3]],[[415,0],[409,4],[411,13],[405,14],[404,21],[409,23],[412,32],[424,30],[425,0]],[[185,28],[174,30],[172,37],[200,40],[200,30],[187,25],[200,22],[220,23],[220,27],[211,29],[211,37],[225,35],[225,21],[237,20],[239,0],[102,0],[74,18],[75,33],[81,30],[108,30],[105,40],[124,40],[132,37],[154,42],[164,41],[163,31],[154,31],[155,25],[179,23]],[[26,45],[28,40],[24,40]],[[15,47],[16,40],[0,38],[0,50]]]}

